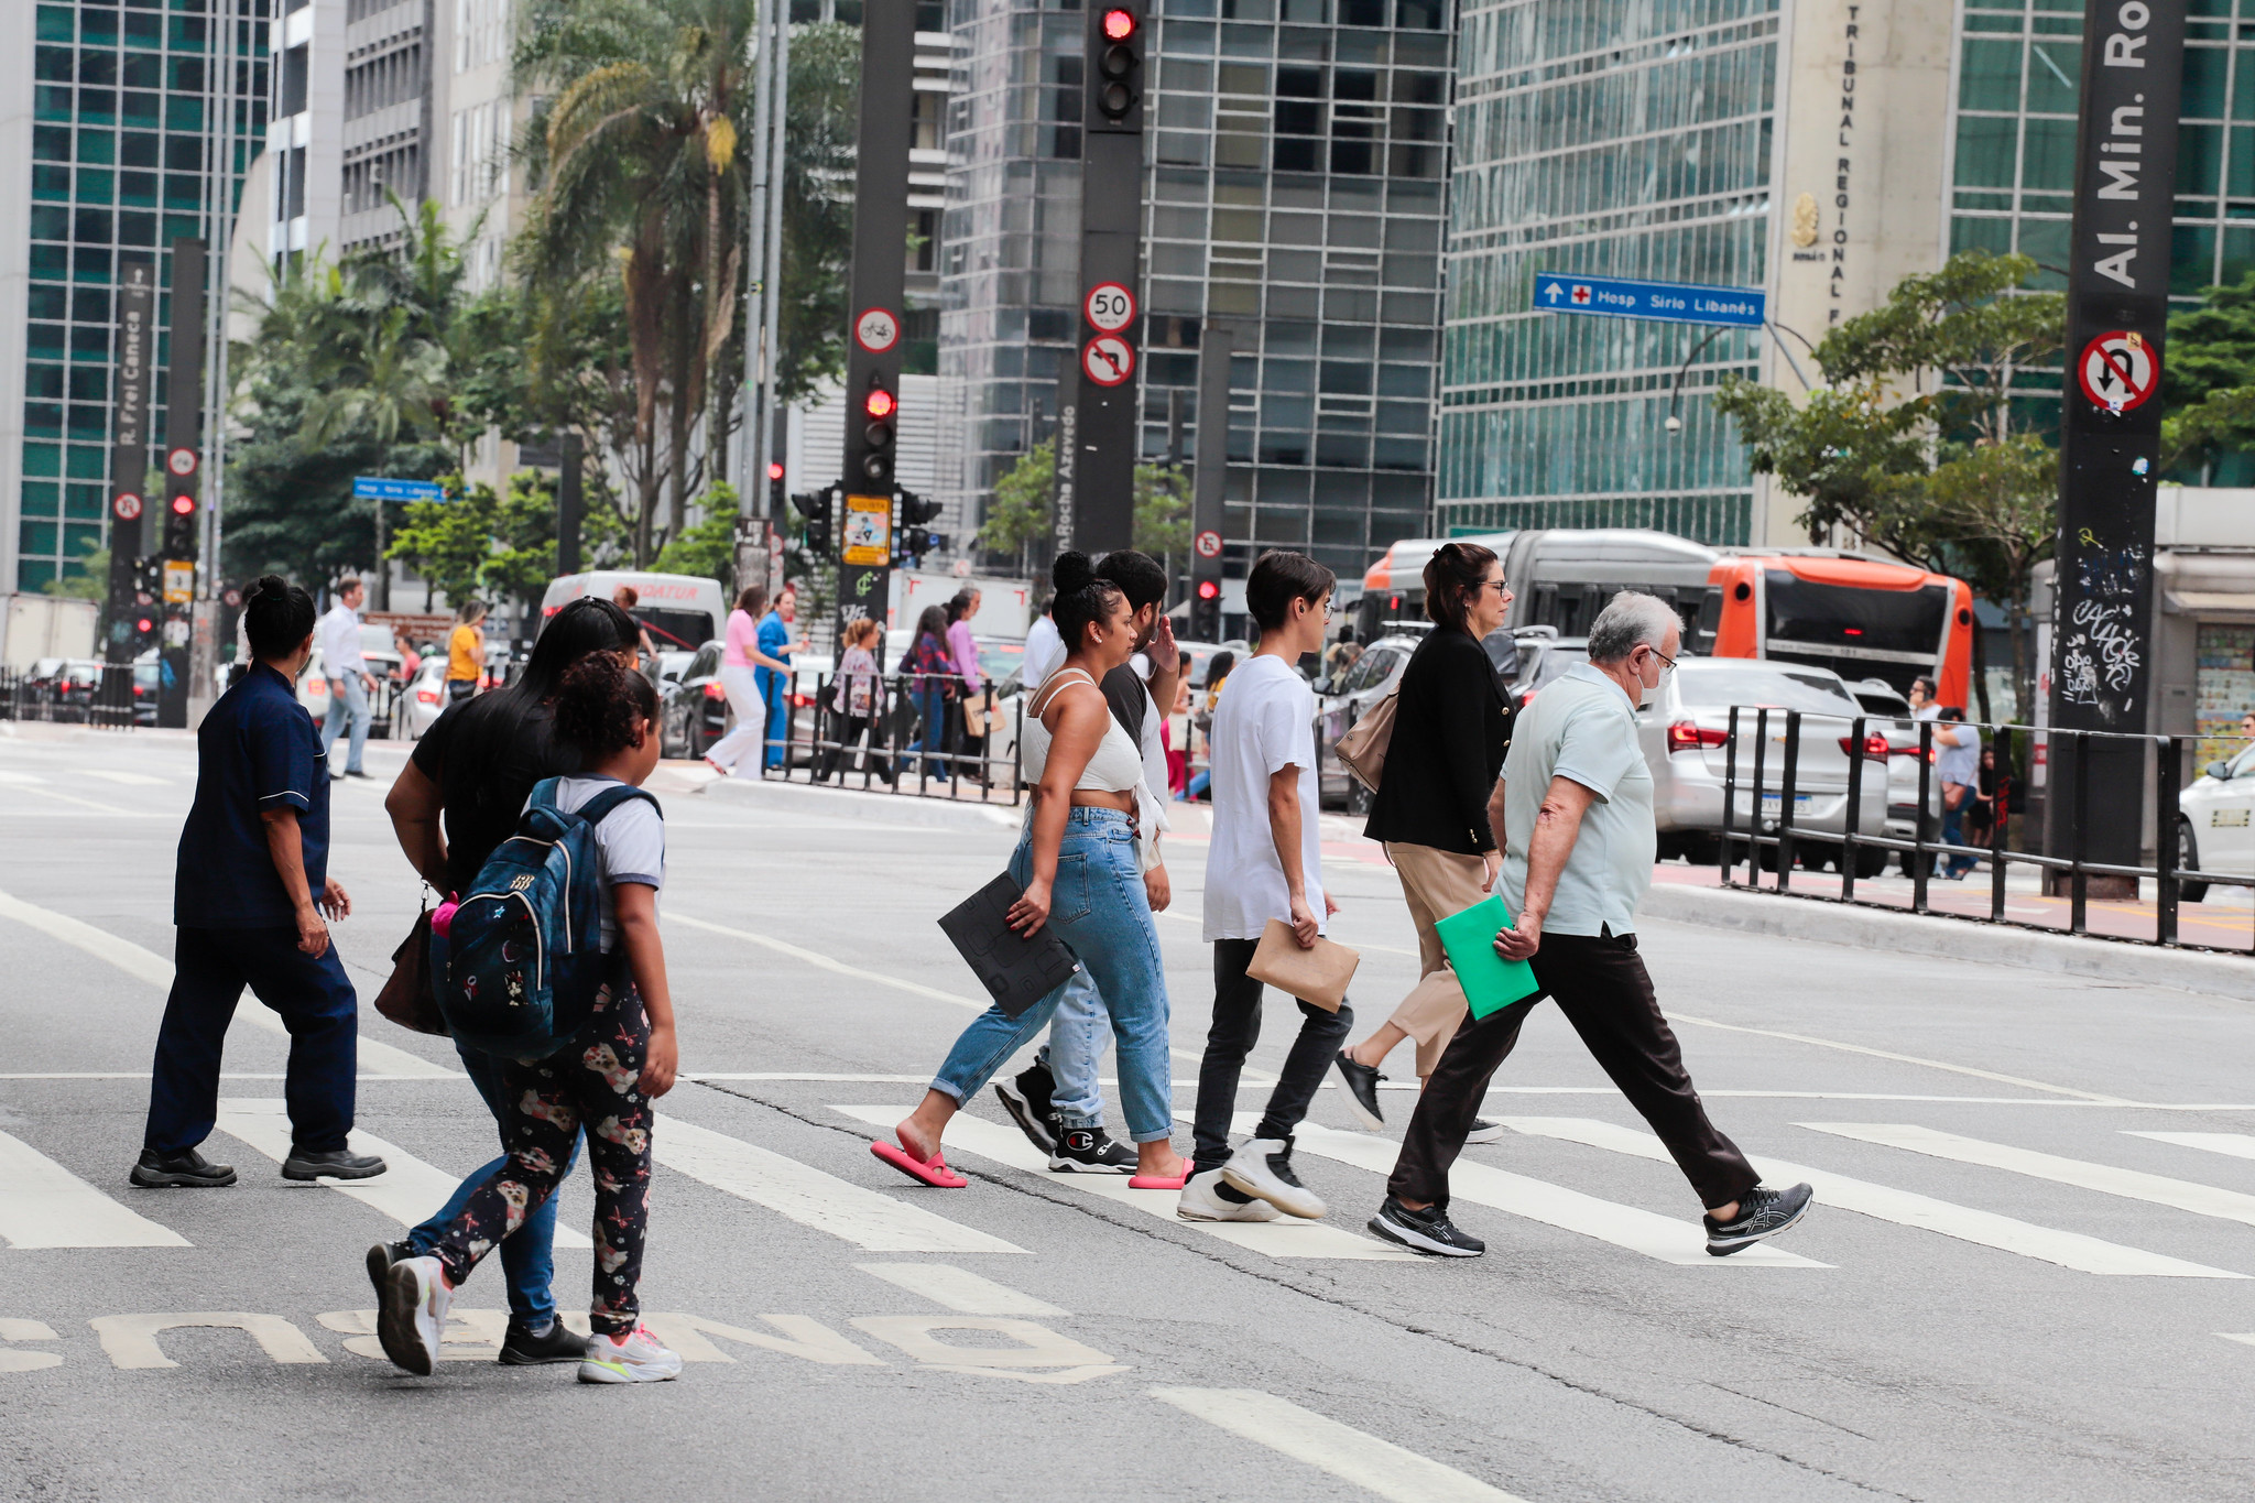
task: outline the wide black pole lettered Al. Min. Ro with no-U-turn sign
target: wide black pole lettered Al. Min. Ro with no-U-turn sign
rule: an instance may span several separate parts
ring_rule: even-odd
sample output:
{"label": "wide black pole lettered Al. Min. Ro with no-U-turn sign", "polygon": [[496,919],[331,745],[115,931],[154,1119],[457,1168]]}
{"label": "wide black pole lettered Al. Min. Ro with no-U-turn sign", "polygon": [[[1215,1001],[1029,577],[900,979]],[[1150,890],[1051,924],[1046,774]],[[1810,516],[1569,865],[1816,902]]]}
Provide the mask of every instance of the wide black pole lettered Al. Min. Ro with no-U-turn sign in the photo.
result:
{"label": "wide black pole lettered Al. Min. Ro with no-U-turn sign", "polygon": [[[2145,732],[2154,674],[2154,484],[2169,320],[2185,0],[2093,0],[2084,14],[2075,259],[2059,424],[2052,730]],[[2145,744],[2048,739],[2045,850],[2140,865]],[[2084,795],[2077,798],[2077,789]],[[2158,841],[2174,841],[2167,822]],[[2133,877],[2088,877],[2131,897]]]}

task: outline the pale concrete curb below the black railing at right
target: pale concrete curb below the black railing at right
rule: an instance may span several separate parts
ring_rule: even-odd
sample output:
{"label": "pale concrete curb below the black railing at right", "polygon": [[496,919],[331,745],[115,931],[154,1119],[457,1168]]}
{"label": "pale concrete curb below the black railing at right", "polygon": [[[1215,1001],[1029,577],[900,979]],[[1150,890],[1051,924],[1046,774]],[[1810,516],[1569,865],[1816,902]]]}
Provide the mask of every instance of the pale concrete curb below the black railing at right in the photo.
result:
{"label": "pale concrete curb below the black railing at right", "polygon": [[1937,955],[1980,964],[2016,964],[2057,976],[2093,980],[2126,980],[2145,987],[2174,987],[2230,1000],[2255,1000],[2255,962],[2232,955],[2124,944],[2113,940],[2077,940],[2045,935],[2005,924],[1924,917],[1822,904],[1799,897],[1759,892],[1723,892],[1680,883],[1653,883],[1637,908],[1644,917],[1707,928],[1734,928],[1750,935],[1818,940],[1851,949]]}

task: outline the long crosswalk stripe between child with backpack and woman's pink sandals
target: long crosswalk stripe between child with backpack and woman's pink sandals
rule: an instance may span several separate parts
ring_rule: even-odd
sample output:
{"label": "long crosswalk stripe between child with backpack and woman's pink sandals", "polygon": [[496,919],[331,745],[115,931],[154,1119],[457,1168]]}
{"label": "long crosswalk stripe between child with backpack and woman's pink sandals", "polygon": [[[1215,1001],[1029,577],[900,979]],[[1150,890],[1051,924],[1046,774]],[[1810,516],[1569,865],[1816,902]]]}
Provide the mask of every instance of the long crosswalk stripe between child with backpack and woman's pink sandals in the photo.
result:
{"label": "long crosswalk stripe between child with backpack and woman's pink sandals", "polygon": [[681,1118],[658,1118],[652,1156],[713,1190],[843,1237],[868,1253],[1024,1253],[1015,1242],[866,1190]]}

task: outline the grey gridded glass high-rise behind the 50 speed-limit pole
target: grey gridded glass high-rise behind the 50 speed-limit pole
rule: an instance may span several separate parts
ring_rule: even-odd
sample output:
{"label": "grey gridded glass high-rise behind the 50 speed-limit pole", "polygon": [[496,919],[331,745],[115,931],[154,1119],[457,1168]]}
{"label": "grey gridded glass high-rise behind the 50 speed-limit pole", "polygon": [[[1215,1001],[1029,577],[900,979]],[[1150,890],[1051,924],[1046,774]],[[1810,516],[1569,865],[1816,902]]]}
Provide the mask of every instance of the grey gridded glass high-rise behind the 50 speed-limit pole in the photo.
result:
{"label": "grey gridded glass high-rise behind the 50 speed-limit pole", "polygon": [[[943,496],[972,530],[1049,435],[1080,329],[1080,11],[958,0],[943,237]],[[1146,457],[1188,457],[1197,349],[1233,340],[1224,572],[1346,577],[1432,500],[1448,149],[1439,0],[1170,0],[1146,135]]]}

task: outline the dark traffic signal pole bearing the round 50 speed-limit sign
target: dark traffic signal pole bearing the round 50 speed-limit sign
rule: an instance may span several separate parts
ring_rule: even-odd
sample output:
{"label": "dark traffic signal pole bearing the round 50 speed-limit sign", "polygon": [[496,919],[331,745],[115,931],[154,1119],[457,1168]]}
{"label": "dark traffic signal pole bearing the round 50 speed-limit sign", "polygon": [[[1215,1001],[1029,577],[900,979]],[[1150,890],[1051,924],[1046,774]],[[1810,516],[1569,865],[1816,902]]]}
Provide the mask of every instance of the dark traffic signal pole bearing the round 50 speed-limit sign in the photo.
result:
{"label": "dark traffic signal pole bearing the round 50 speed-limit sign", "polygon": [[[1058,428],[1071,509],[1058,532],[1098,554],[1134,543],[1143,286],[1143,0],[1087,7],[1080,106],[1080,401]],[[1078,448],[1067,464],[1062,446]],[[1062,498],[1060,498],[1062,500]],[[1067,516],[1071,518],[1067,523]]]}

